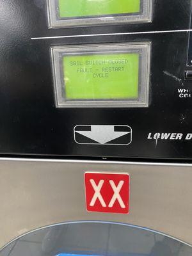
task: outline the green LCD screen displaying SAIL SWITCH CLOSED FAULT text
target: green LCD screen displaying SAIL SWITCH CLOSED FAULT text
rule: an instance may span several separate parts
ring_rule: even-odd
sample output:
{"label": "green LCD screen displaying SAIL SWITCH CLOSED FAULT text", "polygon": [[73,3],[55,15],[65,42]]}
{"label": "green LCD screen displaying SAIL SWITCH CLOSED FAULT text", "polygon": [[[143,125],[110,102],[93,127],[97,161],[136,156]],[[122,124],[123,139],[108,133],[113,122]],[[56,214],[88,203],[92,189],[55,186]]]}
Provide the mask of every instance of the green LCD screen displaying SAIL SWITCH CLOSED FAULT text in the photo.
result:
{"label": "green LCD screen displaying SAIL SWITCH CLOSED FAULT text", "polygon": [[140,54],[63,57],[66,100],[138,99]]}

